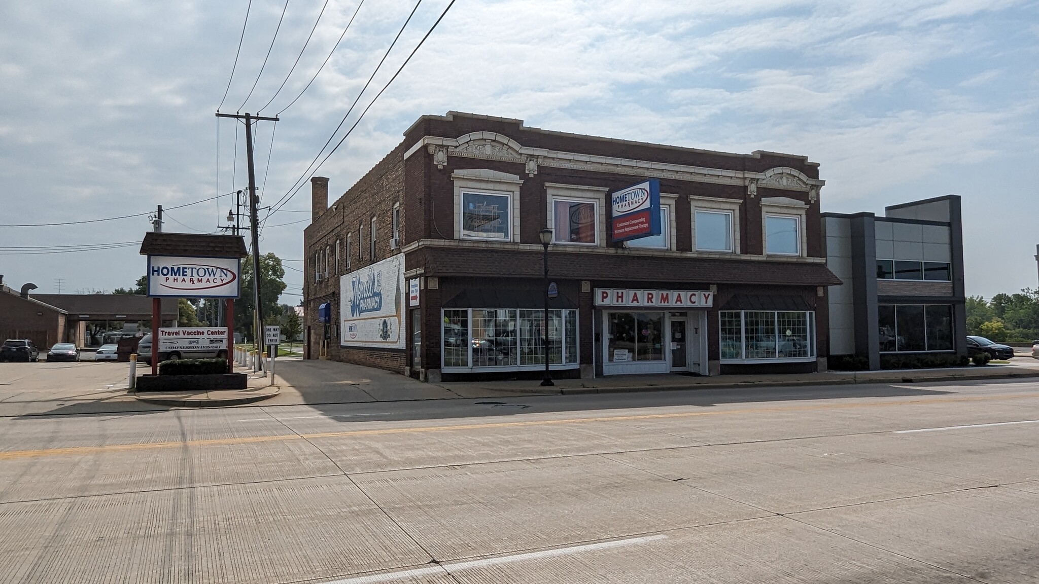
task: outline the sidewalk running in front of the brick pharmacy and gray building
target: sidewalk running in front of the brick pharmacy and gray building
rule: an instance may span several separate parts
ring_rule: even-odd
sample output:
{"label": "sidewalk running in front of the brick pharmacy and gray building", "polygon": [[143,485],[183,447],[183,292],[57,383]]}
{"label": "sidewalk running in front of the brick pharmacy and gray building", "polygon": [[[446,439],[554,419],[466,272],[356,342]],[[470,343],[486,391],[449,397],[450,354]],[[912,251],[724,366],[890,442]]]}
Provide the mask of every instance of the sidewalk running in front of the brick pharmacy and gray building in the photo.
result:
{"label": "sidewalk running in front of the brick pharmacy and gray building", "polygon": [[542,388],[538,379],[508,381],[458,381],[438,386],[451,391],[481,390],[527,394],[595,394],[636,391],[728,389],[750,387],[840,386],[850,383],[915,383],[926,381],[973,381],[1014,377],[1039,377],[1039,361],[955,367],[944,369],[898,369],[883,371],[830,371],[826,373],[781,373],[771,375],[714,375],[700,377],[666,373],[660,375],[611,375],[595,379],[555,379]]}

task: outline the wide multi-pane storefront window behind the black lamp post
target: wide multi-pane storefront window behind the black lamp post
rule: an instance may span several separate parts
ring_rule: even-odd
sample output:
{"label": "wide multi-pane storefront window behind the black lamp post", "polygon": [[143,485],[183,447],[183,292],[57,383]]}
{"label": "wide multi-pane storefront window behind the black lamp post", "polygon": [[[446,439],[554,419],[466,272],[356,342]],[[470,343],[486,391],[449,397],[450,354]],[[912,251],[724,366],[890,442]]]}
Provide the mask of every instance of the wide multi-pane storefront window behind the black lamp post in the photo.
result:
{"label": "wide multi-pane storefront window behind the black lamp post", "polygon": [[[550,310],[549,364],[577,364],[578,336],[577,311]],[[522,368],[538,365],[544,366],[542,309],[444,311],[444,367]]]}

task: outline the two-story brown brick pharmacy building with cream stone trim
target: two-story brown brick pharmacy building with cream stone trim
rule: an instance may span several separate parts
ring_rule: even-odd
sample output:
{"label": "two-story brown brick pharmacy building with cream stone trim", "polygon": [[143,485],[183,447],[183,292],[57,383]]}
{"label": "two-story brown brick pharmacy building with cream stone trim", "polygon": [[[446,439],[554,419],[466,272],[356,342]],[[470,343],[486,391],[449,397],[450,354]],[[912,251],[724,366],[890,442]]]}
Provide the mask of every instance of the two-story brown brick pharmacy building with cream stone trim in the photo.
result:
{"label": "two-story brown brick pharmacy building with cream stone trim", "polygon": [[[615,240],[611,195],[647,179],[660,234]],[[423,116],[331,206],[312,179],[308,356],[428,380],[540,375],[548,228],[554,375],[817,371],[841,284],[823,184],[801,156]]]}

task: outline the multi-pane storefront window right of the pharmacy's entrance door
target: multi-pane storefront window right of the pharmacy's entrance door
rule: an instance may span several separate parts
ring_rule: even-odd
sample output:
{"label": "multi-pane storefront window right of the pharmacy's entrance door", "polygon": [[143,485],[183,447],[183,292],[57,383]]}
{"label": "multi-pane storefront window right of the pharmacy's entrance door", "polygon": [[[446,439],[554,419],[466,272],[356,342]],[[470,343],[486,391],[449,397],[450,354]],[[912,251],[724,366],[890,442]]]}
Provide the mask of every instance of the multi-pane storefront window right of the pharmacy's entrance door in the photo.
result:
{"label": "multi-pane storefront window right of the pharmacy's entrance door", "polygon": [[721,311],[718,318],[722,361],[816,356],[816,313]]}

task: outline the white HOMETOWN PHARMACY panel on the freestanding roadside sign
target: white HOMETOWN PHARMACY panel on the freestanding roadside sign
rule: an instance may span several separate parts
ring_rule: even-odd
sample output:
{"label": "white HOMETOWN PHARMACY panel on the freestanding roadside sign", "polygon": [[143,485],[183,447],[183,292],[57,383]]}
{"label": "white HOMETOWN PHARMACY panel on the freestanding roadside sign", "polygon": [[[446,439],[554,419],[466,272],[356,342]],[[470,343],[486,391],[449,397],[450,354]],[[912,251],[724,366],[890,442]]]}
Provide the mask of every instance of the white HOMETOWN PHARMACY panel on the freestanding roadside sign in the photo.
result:
{"label": "white HOMETOWN PHARMACY panel on the freestanding roadside sign", "polygon": [[237,298],[237,258],[148,257],[148,295],[171,298]]}

